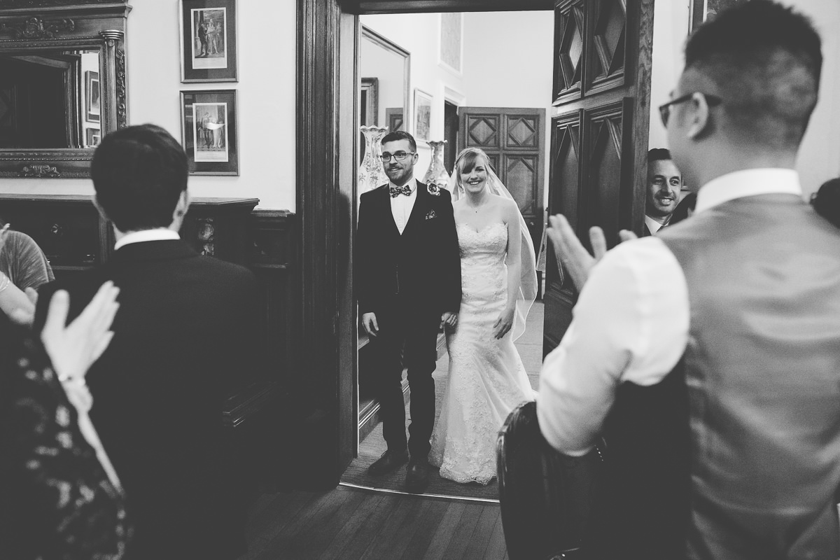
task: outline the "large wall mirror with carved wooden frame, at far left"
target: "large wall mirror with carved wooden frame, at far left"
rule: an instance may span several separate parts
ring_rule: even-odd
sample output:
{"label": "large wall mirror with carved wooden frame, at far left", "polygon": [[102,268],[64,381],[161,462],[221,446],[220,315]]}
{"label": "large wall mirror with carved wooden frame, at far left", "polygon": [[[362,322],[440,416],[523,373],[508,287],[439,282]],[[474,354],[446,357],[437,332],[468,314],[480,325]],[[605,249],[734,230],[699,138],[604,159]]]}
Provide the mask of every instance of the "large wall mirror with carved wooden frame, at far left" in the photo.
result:
{"label": "large wall mirror with carved wooden frame, at far left", "polygon": [[99,140],[128,122],[123,39],[130,6],[0,5],[0,177],[89,177]]}

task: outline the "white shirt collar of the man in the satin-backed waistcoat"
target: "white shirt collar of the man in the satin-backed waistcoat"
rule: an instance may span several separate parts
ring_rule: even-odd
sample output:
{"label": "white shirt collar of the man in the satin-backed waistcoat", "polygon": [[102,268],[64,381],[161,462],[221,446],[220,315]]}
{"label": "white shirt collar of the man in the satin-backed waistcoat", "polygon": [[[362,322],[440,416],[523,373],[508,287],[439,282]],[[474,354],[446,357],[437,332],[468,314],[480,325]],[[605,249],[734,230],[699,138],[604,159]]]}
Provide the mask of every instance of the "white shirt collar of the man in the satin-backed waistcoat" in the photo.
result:
{"label": "white shirt collar of the man in the satin-backed waistcoat", "polygon": [[743,196],[790,194],[802,196],[799,174],[779,167],[733,171],[712,179],[697,192],[695,212]]}

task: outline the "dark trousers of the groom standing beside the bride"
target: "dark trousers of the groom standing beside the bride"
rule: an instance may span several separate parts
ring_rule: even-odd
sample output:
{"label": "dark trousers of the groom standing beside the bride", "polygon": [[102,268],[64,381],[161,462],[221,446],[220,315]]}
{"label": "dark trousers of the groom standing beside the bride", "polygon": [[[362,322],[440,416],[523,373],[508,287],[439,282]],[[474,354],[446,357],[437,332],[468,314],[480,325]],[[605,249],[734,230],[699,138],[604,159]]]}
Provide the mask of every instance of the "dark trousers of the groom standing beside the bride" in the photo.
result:
{"label": "dark trousers of the groom standing beside the bride", "polygon": [[[408,452],[412,460],[426,460],[434,427],[434,379],[438,361],[440,313],[410,296],[394,296],[374,311],[379,334],[370,338],[379,358],[375,395],[380,403],[382,433],[388,449],[406,448],[406,409],[402,400],[402,370],[408,369],[411,425]],[[432,307],[430,309],[430,307]]]}

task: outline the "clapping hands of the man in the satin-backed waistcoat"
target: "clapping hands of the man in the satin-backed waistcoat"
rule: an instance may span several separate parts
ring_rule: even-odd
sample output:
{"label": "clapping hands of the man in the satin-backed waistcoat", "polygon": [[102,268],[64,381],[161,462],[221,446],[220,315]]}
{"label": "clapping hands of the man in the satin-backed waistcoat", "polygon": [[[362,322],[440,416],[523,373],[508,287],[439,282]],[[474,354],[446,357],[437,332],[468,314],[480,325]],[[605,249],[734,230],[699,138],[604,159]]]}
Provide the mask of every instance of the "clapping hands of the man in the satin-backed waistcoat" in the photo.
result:
{"label": "clapping hands of the man in the satin-backed waistcoat", "polygon": [[[563,214],[549,217],[551,226],[546,232],[554,243],[554,254],[557,256],[558,264],[562,264],[575,282],[578,291],[583,289],[586,279],[589,278],[590,270],[606,254],[606,238],[604,230],[594,226],[589,230],[589,240],[592,244],[594,256],[589,254],[583,243],[575,235],[575,230],[569,225],[569,221]],[[635,239],[636,234],[626,229],[618,233],[622,241]]]}

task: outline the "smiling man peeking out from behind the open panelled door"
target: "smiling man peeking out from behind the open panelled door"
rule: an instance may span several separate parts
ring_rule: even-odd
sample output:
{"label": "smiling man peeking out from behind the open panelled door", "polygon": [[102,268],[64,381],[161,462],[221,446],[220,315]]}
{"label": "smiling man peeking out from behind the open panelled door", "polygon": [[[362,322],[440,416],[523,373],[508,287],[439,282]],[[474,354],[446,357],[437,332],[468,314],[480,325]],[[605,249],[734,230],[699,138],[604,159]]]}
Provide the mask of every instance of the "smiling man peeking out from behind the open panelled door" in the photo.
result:
{"label": "smiling man peeking out from behind the open panelled door", "polygon": [[668,225],[680,203],[682,175],[664,148],[648,150],[648,190],[644,198],[644,235],[656,235]]}

